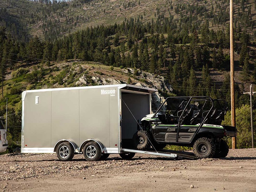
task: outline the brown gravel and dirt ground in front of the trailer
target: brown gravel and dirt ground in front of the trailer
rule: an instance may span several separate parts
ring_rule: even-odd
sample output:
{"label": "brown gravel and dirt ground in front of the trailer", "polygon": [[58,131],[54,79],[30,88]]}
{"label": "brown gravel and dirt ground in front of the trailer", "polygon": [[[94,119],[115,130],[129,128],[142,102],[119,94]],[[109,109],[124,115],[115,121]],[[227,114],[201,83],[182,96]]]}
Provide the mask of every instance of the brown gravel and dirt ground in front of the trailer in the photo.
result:
{"label": "brown gravel and dirt ground in front of the trailer", "polygon": [[56,154],[6,154],[0,162],[0,191],[256,191],[256,149],[230,149],[222,159],[75,155],[61,162]]}

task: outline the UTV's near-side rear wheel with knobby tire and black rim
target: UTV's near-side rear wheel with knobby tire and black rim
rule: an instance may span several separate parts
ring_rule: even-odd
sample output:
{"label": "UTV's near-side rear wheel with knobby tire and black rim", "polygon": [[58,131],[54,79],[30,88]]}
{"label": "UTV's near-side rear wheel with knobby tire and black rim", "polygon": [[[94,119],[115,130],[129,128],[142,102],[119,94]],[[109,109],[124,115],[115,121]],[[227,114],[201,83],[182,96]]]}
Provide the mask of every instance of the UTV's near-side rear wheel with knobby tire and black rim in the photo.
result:
{"label": "UTV's near-side rear wheel with knobby tire and black rim", "polygon": [[199,159],[212,158],[215,154],[215,144],[212,139],[205,137],[199,138],[194,143],[193,151]]}

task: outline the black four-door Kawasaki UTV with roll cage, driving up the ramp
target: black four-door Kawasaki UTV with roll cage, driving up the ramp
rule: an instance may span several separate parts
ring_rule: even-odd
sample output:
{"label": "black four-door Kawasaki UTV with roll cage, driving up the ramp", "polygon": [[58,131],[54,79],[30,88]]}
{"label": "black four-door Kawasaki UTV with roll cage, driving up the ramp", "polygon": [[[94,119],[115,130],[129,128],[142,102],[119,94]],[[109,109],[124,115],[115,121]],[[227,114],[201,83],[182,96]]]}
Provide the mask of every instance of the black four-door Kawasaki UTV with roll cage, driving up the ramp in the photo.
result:
{"label": "black four-door Kawasaki UTV with roll cage, driving up the ramp", "polygon": [[221,125],[227,112],[225,100],[210,97],[169,97],[154,114],[141,119],[133,136],[137,149],[167,144],[193,147],[198,158],[226,157],[224,137],[236,137],[236,127]]}

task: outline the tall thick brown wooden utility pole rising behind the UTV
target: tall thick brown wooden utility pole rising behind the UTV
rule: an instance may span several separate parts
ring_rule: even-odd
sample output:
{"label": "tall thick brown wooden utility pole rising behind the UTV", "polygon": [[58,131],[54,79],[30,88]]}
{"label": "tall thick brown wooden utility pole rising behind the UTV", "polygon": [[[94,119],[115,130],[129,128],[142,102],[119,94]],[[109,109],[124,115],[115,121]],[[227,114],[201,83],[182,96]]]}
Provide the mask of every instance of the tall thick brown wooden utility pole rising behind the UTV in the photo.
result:
{"label": "tall thick brown wooden utility pole rising behind the UTV", "polygon": [[[230,0],[230,98],[231,98],[231,125],[236,126],[235,108],[235,78],[234,78],[234,38],[233,38],[233,0]],[[232,149],[236,148],[236,137],[232,138]]]}

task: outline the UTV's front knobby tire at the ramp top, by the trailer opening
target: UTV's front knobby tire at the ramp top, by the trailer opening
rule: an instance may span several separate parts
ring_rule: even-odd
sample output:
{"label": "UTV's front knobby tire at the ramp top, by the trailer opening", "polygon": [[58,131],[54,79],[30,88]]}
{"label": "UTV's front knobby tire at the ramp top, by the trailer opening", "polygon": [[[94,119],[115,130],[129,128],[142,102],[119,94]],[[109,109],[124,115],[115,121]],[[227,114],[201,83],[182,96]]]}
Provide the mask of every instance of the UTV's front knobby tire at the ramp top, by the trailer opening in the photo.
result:
{"label": "UTV's front knobby tire at the ramp top, by the trailer opening", "polygon": [[137,131],[133,135],[133,142],[135,144],[135,147],[140,150],[144,150],[146,148],[149,148],[150,142],[148,140],[148,135],[146,135],[146,132],[143,132],[142,130]]}

